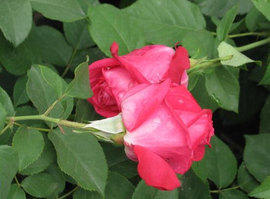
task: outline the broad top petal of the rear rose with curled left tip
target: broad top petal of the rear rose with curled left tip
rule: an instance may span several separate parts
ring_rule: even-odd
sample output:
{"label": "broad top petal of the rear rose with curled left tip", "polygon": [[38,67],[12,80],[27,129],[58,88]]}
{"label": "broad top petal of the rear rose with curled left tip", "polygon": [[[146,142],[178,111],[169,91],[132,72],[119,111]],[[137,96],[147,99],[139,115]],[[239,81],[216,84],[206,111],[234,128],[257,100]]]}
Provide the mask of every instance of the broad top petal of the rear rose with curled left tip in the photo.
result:
{"label": "broad top petal of the rear rose with curled left tip", "polygon": [[[111,51],[113,57],[118,59],[122,66],[135,76],[138,73],[141,74],[149,83],[158,83],[160,80],[167,78],[170,63],[175,54],[171,47],[165,45],[148,45],[127,55],[118,56],[118,45],[113,43]],[[140,83],[147,83],[145,80]]]}

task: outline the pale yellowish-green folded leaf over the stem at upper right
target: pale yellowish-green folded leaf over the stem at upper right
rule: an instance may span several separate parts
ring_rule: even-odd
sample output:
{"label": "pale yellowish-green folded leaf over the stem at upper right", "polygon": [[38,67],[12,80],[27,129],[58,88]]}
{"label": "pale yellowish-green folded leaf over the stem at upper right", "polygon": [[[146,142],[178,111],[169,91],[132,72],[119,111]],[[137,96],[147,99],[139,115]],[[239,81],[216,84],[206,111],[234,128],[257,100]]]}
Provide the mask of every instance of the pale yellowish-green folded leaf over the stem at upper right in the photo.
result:
{"label": "pale yellowish-green folded leaf over the stem at upper right", "polygon": [[[222,65],[228,65],[228,66],[242,66],[244,64],[256,62],[254,60],[249,59],[246,55],[239,52],[236,48],[231,46],[230,44],[227,44],[225,42],[222,42],[219,47],[219,57],[227,57],[227,56],[233,56],[231,59],[226,61],[221,61]],[[257,62],[259,64],[259,62]]]}

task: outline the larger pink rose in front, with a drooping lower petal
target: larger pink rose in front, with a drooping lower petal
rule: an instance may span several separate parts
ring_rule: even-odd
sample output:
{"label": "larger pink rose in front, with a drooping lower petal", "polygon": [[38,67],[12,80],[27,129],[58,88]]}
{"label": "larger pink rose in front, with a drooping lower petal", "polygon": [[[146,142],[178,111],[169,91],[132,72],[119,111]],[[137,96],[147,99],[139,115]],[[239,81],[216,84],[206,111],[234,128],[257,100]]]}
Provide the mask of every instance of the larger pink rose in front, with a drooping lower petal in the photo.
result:
{"label": "larger pink rose in front, with a drooping lower petal", "polygon": [[140,177],[161,190],[179,187],[176,173],[188,171],[210,145],[212,111],[202,110],[187,88],[170,79],[131,88],[121,109],[125,152],[139,162]]}

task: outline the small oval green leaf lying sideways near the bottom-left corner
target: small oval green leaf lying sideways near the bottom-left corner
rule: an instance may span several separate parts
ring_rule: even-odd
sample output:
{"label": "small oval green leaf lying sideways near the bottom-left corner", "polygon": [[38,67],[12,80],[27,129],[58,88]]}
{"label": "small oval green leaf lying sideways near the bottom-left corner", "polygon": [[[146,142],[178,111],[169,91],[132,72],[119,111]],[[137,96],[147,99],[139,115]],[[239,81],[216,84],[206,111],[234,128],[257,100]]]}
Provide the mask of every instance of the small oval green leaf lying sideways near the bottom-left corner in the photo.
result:
{"label": "small oval green leaf lying sideways near the bottom-left corner", "polygon": [[25,177],[21,186],[28,194],[38,198],[50,196],[57,186],[55,178],[45,172]]}

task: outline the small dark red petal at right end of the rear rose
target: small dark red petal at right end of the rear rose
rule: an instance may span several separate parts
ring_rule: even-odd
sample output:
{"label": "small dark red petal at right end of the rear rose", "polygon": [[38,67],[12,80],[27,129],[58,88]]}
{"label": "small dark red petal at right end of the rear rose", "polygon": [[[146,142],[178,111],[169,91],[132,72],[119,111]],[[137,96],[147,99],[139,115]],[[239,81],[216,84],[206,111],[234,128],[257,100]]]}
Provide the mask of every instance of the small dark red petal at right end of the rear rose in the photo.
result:
{"label": "small dark red petal at right end of the rear rose", "polygon": [[190,67],[187,50],[179,46],[176,49],[176,53],[172,58],[169,67],[169,78],[172,79],[172,83],[179,84],[182,74]]}

